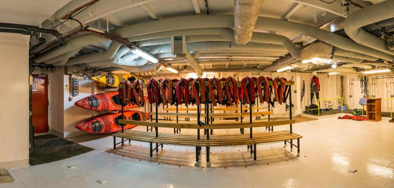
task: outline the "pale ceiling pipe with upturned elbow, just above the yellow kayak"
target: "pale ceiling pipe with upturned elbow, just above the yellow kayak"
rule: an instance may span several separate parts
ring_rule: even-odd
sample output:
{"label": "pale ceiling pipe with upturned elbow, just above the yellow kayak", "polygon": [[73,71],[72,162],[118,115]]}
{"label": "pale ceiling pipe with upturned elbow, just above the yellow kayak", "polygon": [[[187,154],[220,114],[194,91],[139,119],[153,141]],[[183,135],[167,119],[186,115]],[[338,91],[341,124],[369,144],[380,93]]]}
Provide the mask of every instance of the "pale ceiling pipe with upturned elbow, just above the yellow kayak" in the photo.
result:
{"label": "pale ceiling pipe with upturned elbow, just above the yellow kayak", "polygon": [[68,65],[74,65],[74,64],[80,64],[80,63],[89,63],[89,62],[95,62],[95,61],[104,61],[108,60],[114,57],[116,54],[117,50],[121,47],[120,44],[112,41],[111,44],[109,45],[108,49],[102,51],[102,52],[96,52],[96,53],[89,53],[86,55],[80,55],[74,58],[70,58],[67,62]]}

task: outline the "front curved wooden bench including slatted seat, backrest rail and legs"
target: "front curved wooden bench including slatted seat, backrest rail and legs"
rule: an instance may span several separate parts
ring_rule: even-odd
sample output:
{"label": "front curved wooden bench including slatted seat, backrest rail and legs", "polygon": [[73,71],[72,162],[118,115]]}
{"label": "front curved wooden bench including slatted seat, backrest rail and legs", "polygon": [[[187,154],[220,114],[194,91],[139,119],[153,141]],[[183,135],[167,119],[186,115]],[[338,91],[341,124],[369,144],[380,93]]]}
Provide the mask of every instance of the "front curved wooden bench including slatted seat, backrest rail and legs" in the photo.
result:
{"label": "front curved wooden bench including slatted seat, backrest rail and legs", "polygon": [[[264,127],[264,126],[277,126],[284,125],[288,123],[294,123],[294,120],[284,120],[284,121],[270,121],[270,122],[258,122],[258,123],[222,123],[222,124],[209,124],[209,125],[196,125],[190,123],[154,123],[154,122],[139,122],[139,121],[129,121],[129,120],[119,120],[120,123],[125,124],[135,124],[143,126],[154,126],[154,127],[167,127],[167,128],[191,128],[191,129],[227,129],[227,128],[247,128],[247,127]],[[157,130],[157,129],[156,129]],[[156,153],[159,151],[159,146],[163,148],[163,144],[168,145],[180,145],[180,146],[195,146],[196,147],[196,165],[199,165],[199,156],[201,156],[201,148],[206,147],[207,149],[207,166],[209,163],[209,149],[210,147],[220,147],[220,146],[242,146],[247,145],[248,149],[250,147],[250,157],[253,156],[254,162],[257,161],[257,144],[266,144],[273,142],[284,141],[290,143],[290,148],[292,152],[292,147],[295,146],[298,149],[297,156],[300,155],[300,138],[301,135],[290,133],[289,130],[283,131],[272,131],[264,133],[253,133],[249,134],[234,134],[234,135],[180,135],[180,134],[167,134],[167,133],[156,133],[156,132],[145,132],[137,130],[124,130],[124,133],[118,132],[112,135],[114,138],[114,150],[116,150],[116,137],[147,142],[150,144],[150,157],[153,157],[153,151]],[[292,143],[292,140],[297,139],[297,145]],[[153,148],[153,143],[156,143],[156,147]],[[254,154],[254,155],[253,155]]]}

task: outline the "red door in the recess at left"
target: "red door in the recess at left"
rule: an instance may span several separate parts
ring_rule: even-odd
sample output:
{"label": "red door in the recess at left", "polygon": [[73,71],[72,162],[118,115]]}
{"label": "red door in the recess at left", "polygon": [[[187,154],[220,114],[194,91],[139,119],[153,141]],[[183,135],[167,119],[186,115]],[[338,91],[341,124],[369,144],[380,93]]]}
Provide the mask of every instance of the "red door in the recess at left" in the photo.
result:
{"label": "red door in the recess at left", "polygon": [[33,74],[34,133],[48,133],[48,76]]}

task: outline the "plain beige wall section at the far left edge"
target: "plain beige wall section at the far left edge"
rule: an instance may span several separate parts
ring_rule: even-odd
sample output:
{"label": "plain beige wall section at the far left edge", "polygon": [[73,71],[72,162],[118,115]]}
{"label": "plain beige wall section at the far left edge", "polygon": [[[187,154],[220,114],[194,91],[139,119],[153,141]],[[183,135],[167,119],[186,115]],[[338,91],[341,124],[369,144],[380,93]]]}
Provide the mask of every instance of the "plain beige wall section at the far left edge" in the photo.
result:
{"label": "plain beige wall section at the far left edge", "polygon": [[0,33],[0,168],[29,165],[29,36]]}

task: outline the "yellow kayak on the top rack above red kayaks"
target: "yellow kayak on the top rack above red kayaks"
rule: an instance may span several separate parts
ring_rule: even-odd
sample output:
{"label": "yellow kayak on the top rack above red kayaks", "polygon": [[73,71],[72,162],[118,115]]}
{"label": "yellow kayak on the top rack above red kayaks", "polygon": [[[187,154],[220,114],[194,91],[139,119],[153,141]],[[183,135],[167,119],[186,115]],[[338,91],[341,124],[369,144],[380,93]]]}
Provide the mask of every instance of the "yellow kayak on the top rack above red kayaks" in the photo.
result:
{"label": "yellow kayak on the top rack above red kayaks", "polygon": [[105,74],[98,77],[92,77],[92,80],[97,82],[99,85],[110,87],[118,87],[119,83],[122,82],[123,79],[134,81],[139,78],[132,74]]}

